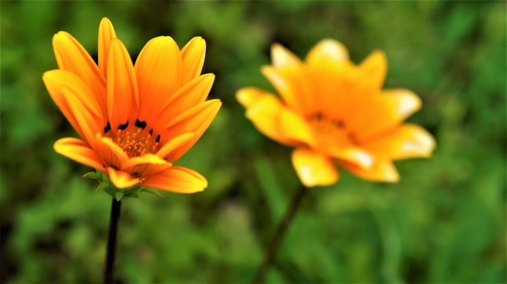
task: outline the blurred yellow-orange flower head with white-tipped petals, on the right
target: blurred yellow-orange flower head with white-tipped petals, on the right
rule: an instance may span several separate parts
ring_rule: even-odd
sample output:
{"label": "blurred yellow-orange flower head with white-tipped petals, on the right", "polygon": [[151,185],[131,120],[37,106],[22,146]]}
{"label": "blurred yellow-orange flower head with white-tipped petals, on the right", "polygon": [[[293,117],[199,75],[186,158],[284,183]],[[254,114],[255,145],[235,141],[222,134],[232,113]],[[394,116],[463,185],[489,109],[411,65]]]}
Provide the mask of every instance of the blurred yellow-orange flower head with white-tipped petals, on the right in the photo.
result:
{"label": "blurred yellow-orange flower head with white-tipped petals, on the right", "polygon": [[335,183],[337,166],[367,180],[396,182],[393,160],[431,155],[431,135],[403,123],[420,99],[405,89],[382,90],[384,53],[355,65],[331,39],[313,47],[304,62],[277,44],[271,53],[273,65],[262,72],[281,98],[253,87],[236,97],[260,132],[296,148],[292,162],[305,186]]}

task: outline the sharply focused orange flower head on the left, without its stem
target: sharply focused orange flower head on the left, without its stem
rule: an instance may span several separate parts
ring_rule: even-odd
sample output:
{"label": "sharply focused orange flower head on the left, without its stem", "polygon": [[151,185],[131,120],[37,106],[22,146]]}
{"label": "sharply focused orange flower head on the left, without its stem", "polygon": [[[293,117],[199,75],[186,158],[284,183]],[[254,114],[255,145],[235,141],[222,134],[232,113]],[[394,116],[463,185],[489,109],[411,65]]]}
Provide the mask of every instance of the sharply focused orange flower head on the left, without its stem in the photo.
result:
{"label": "sharply focused orange flower head on the left, without its stem", "polygon": [[58,70],[43,80],[51,98],[83,140],[62,138],[56,152],[98,169],[117,188],[146,186],[202,191],[206,179],[173,167],[201,137],[220,100],[205,101],[214,75],[201,75],[205,42],[194,37],[179,50],[169,36],[151,39],[135,65],[104,18],[98,65],[70,34],[53,37]]}

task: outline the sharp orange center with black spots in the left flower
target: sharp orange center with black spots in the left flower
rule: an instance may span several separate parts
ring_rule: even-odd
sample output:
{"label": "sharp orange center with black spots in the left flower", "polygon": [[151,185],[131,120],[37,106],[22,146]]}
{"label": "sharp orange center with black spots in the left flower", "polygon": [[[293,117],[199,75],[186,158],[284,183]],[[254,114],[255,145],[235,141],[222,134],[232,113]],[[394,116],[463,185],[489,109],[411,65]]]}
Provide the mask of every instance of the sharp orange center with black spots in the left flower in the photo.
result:
{"label": "sharp orange center with black spots in the left flower", "polygon": [[127,121],[126,124],[118,127],[117,134],[109,131],[110,129],[111,126],[107,123],[104,134],[120,146],[129,158],[155,153],[158,150],[160,135],[154,138],[153,130],[145,130],[146,123],[144,121],[136,120],[133,127],[129,127]]}

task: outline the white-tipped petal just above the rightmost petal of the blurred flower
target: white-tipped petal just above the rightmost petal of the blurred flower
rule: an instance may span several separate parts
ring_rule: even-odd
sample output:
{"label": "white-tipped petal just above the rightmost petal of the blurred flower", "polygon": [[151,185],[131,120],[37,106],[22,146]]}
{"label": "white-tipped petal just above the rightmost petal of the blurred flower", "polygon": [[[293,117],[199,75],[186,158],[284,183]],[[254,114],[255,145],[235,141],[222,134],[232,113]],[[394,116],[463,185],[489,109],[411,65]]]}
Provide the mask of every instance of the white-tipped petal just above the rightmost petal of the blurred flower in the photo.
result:
{"label": "white-tipped petal just above the rightmost petal of the blurred flower", "polygon": [[399,126],[421,105],[421,99],[409,90],[384,90],[380,95],[363,100],[361,108],[368,111],[357,112],[350,117],[348,127],[355,130],[360,142],[367,143]]}

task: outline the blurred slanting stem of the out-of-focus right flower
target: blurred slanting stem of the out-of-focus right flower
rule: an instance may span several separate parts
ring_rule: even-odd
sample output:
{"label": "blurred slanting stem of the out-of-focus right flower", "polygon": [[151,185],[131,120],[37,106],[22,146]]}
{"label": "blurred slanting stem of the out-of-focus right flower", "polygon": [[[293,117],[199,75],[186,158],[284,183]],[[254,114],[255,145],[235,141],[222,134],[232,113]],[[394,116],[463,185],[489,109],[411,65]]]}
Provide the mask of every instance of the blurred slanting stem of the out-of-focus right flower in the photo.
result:
{"label": "blurred slanting stem of the out-of-focus right flower", "polygon": [[257,273],[255,277],[253,277],[252,283],[262,283],[264,282],[264,276],[266,272],[268,271],[269,266],[273,262],[273,259],[276,255],[276,252],[278,251],[280,244],[283,240],[283,237],[285,236],[285,233],[287,232],[288,226],[291,224],[292,220],[294,219],[294,216],[296,215],[296,212],[299,209],[299,205],[301,204],[301,201],[303,200],[303,197],[305,197],[306,192],[308,191],[308,188],[301,185],[299,189],[294,193],[294,196],[292,197],[291,204],[289,204],[289,207],[287,209],[287,212],[285,213],[285,216],[283,217],[280,224],[278,224],[278,228],[276,229],[275,236],[271,240],[268,251],[266,252],[266,255],[264,256],[264,260],[259,266],[259,269],[257,269]]}

